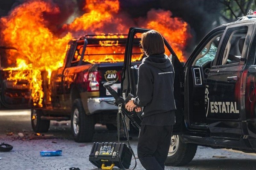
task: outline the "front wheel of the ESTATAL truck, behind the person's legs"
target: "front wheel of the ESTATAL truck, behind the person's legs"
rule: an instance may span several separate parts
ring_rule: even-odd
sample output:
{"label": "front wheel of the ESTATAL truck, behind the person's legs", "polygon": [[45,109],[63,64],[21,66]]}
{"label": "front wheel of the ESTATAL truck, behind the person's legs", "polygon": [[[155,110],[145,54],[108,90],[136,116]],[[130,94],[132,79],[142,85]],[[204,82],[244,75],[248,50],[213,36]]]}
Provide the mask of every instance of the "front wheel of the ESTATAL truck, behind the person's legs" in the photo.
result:
{"label": "front wheel of the ESTATAL truck, behind the person's legs", "polygon": [[172,136],[169,153],[165,162],[167,166],[186,165],[195,156],[197,144],[185,144],[180,138],[178,135]]}

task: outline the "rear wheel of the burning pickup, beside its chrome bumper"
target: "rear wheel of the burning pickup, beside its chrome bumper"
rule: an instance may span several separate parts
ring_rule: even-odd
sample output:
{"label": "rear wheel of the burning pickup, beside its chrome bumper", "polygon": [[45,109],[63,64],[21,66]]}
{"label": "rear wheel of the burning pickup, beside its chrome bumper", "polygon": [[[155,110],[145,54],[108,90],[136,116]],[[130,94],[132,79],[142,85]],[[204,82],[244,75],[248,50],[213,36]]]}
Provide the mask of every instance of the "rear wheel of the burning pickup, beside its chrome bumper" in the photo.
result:
{"label": "rear wheel of the burning pickup, beside its chrome bumper", "polygon": [[94,119],[85,114],[81,99],[73,102],[71,130],[76,142],[91,142],[93,139]]}

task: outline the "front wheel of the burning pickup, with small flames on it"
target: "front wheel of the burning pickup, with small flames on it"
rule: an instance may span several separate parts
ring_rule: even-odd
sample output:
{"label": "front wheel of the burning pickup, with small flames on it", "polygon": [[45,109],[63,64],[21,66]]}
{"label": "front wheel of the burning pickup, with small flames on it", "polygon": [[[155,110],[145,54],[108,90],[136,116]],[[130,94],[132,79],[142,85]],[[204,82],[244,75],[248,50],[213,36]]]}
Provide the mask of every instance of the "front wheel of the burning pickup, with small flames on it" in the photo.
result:
{"label": "front wheel of the burning pickup, with small flames on it", "polygon": [[31,109],[31,125],[34,132],[48,132],[50,121],[42,120],[42,111]]}

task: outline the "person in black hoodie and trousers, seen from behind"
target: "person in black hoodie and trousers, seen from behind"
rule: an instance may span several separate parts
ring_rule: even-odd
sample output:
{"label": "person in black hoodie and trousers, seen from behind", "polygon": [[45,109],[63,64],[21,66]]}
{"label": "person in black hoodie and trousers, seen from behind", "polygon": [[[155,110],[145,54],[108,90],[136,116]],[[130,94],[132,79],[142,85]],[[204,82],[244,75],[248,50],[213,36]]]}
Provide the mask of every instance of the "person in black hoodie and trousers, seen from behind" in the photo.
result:
{"label": "person in black hoodie and trousers, seen from behind", "polygon": [[139,67],[137,97],[125,108],[139,112],[143,120],[137,146],[138,158],[146,170],[164,170],[175,124],[174,68],[164,54],[162,35],[148,31],[141,35],[141,45],[147,57]]}

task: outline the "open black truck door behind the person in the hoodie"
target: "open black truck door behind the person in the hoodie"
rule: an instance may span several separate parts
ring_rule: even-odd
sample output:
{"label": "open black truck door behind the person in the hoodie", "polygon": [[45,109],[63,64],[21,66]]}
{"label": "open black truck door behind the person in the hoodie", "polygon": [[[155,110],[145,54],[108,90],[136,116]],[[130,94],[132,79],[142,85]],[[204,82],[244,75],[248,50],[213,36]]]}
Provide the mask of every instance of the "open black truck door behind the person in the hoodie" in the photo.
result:
{"label": "open black truck door behind the person in the hoodie", "polygon": [[[138,68],[139,68],[139,65],[141,64],[142,58],[145,57],[145,54],[143,54],[143,52],[141,51],[140,61],[134,59],[134,56],[132,55],[134,54],[133,47],[137,46],[136,40],[140,37],[140,35],[147,31],[149,31],[149,29],[134,28],[134,27],[131,27],[129,30],[127,43],[125,47],[125,59],[124,59],[124,67],[122,71],[122,81],[121,81],[121,91],[122,91],[123,98],[127,97],[129,93],[136,96]],[[181,65],[175,52],[172,50],[171,46],[168,44],[168,42],[165,39],[164,39],[164,43],[165,43],[166,54],[172,59],[172,64],[175,69],[175,82],[174,82],[175,94],[174,95],[175,95],[177,111],[176,111],[176,124],[174,126],[173,134],[177,134],[177,133],[180,133],[182,129],[185,129],[183,128],[184,119],[181,113],[181,110],[182,110],[181,105],[182,105],[183,97],[180,95],[181,94],[180,84],[182,84],[180,77],[182,76],[182,73],[183,73],[183,66]]]}

